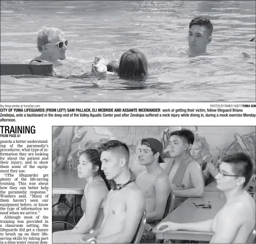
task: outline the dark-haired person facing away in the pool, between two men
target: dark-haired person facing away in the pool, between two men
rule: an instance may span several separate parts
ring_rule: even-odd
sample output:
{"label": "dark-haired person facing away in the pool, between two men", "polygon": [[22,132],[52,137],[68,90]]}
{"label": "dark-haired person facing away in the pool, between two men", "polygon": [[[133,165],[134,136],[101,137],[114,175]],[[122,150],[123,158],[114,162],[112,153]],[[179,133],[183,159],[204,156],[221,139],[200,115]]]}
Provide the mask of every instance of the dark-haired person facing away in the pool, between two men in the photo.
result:
{"label": "dark-haired person facing away in the pool, between two men", "polygon": [[122,54],[119,65],[110,62],[105,56],[96,56],[92,71],[96,74],[117,73],[121,78],[143,78],[148,74],[148,66],[145,54],[137,49],[130,49]]}

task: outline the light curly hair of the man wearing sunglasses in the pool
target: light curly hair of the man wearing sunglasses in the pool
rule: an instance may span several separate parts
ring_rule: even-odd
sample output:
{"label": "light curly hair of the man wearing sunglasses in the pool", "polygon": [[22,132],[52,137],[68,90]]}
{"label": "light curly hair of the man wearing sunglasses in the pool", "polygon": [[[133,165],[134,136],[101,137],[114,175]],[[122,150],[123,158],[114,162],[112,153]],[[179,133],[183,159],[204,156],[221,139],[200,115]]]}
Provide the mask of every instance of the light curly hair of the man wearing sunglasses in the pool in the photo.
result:
{"label": "light curly hair of the man wearing sunglasses in the pool", "polygon": [[64,33],[55,27],[47,28],[45,26],[42,27],[38,31],[38,37],[37,37],[37,49],[41,53],[42,46],[49,43],[51,41],[51,38],[54,37],[54,35],[64,35]]}

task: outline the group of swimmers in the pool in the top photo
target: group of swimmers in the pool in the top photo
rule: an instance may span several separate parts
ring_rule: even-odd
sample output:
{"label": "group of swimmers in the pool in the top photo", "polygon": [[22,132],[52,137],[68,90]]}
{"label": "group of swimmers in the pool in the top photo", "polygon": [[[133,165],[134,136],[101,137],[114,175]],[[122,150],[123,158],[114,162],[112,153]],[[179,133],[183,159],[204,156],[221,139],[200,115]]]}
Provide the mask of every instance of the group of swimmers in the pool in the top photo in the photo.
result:
{"label": "group of swimmers in the pool in the top photo", "polygon": [[[189,57],[208,55],[207,45],[212,40],[213,24],[205,17],[196,17],[189,23],[189,34],[187,41],[189,48],[187,55]],[[38,32],[37,48],[41,53],[39,57],[33,60],[42,62],[47,61],[58,66],[58,60],[66,59],[68,41],[65,39],[61,30],[55,27],[43,27]],[[213,55],[210,56],[214,58]],[[238,57],[250,57],[250,54],[242,52]],[[148,74],[149,63],[177,63],[184,62],[185,58],[175,57],[156,57],[149,61],[146,55],[137,49],[130,49],[122,54],[120,61],[110,61],[103,55],[95,57],[92,63],[91,71],[95,74],[118,74],[121,78],[143,78]]]}

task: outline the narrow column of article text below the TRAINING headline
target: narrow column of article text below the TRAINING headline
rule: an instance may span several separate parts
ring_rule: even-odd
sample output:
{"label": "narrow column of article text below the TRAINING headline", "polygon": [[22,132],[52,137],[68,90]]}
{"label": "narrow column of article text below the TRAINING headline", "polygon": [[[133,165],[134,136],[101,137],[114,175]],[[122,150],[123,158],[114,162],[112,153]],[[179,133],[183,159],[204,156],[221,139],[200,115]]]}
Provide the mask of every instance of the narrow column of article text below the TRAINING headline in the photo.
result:
{"label": "narrow column of article text below the TRAINING headline", "polygon": [[48,141],[0,145],[0,244],[48,243],[49,217],[42,215],[49,211]]}

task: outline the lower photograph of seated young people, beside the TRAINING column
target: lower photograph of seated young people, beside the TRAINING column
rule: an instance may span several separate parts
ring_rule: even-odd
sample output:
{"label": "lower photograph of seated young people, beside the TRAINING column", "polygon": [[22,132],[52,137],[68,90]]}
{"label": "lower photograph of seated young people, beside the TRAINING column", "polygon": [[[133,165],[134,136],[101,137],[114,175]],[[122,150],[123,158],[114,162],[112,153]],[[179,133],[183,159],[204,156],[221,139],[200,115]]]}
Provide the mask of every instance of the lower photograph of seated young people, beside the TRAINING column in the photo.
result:
{"label": "lower photograph of seated young people, beside the TRAINING column", "polygon": [[53,243],[255,243],[255,126],[53,126]]}

